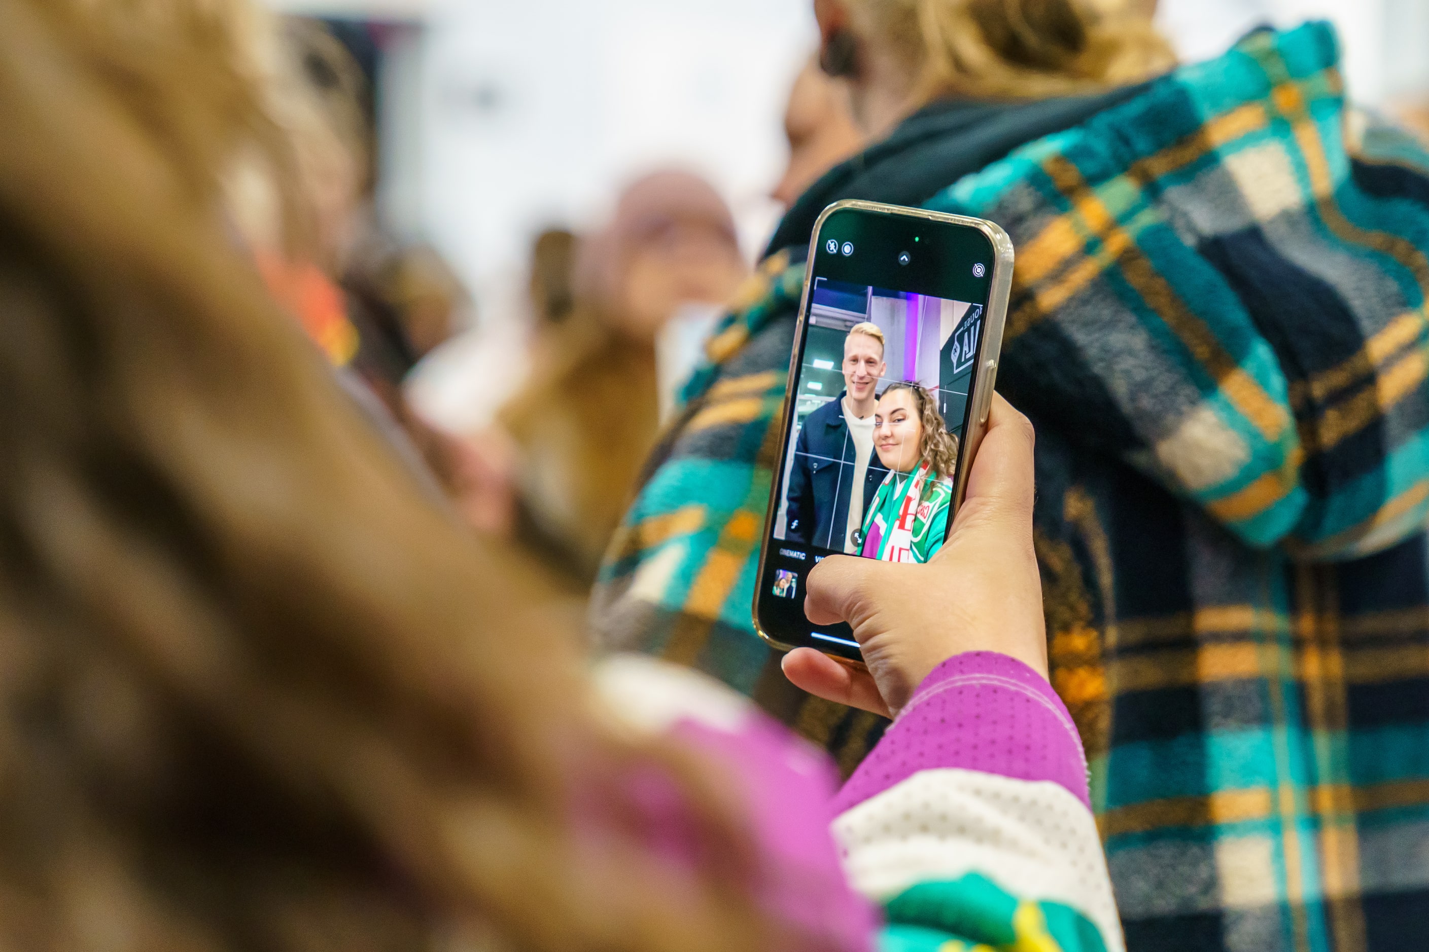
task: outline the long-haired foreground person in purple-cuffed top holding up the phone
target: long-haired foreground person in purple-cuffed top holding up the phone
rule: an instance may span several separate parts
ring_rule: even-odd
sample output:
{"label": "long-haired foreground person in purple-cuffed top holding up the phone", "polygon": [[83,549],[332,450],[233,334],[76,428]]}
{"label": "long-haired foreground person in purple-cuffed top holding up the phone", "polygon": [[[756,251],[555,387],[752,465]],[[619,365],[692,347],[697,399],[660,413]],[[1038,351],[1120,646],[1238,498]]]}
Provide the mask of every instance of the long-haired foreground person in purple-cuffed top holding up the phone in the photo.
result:
{"label": "long-haired foreground person in purple-cuffed top holding up the phone", "polygon": [[[870,675],[800,677],[902,715],[833,798],[717,684],[592,674],[354,411],[89,24],[0,23],[0,946],[1120,948],[1046,681],[1025,418],[995,407],[986,518],[919,589],[816,572],[825,611],[880,621]],[[949,625],[926,592],[980,574],[1009,591]]]}

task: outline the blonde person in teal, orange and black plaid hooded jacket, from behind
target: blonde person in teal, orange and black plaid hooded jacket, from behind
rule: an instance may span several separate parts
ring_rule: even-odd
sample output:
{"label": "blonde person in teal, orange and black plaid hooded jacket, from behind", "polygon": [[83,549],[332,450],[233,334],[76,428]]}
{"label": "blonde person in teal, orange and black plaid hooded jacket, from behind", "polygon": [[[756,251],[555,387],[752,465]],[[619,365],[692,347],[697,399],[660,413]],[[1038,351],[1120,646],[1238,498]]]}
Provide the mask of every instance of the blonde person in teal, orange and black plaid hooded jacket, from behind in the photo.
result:
{"label": "blonde person in teal, orange and black plaid hooded jacket, from behind", "polygon": [[594,622],[860,761],[883,725],[789,692],[750,627],[803,255],[840,198],[992,218],[1052,679],[1129,948],[1415,948],[1429,160],[1346,103],[1326,24],[1176,69],[1150,6],[816,0],[875,141],[793,204],[766,293],[712,337]]}

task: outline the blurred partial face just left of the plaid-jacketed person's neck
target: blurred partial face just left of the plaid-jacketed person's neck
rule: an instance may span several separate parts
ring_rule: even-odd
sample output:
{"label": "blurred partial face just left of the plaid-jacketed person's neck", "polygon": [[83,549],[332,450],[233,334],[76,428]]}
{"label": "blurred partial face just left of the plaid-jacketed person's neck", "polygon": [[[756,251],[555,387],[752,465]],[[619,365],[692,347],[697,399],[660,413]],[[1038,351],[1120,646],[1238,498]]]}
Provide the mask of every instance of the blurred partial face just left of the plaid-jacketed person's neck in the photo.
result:
{"label": "blurred partial face just left of the plaid-jacketed person's neck", "polygon": [[847,84],[819,69],[817,59],[799,70],[789,90],[785,137],[789,140],[789,167],[770,196],[786,207],[819,176],[863,147],[865,136],[853,121]]}

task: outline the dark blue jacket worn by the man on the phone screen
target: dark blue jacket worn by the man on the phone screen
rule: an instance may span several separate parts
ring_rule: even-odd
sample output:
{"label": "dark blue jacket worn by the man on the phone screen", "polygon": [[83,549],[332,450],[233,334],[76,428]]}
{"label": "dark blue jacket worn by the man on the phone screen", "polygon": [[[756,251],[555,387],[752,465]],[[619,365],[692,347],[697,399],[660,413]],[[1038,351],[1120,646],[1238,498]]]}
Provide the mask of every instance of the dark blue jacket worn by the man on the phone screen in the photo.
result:
{"label": "dark blue jacket worn by the man on the phone screen", "polygon": [[[845,391],[847,393],[847,391]],[[857,451],[843,422],[843,397],[830,400],[805,418],[795,441],[795,462],[789,471],[789,507],[785,538],[802,545],[843,551],[849,524],[849,500],[853,495],[853,471]],[[869,474],[863,481],[863,502],[873,498],[887,475],[879,454],[869,454]]]}

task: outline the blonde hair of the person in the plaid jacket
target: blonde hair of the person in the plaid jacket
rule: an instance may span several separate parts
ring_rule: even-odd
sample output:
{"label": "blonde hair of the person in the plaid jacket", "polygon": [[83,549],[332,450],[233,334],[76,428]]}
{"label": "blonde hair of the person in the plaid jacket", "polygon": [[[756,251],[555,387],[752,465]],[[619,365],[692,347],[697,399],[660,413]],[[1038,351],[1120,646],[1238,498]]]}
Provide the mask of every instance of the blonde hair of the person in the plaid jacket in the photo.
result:
{"label": "blonde hair of the person in the plaid jacket", "polygon": [[907,64],[917,101],[1095,93],[1176,63],[1137,0],[843,0]]}

